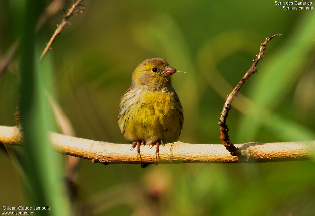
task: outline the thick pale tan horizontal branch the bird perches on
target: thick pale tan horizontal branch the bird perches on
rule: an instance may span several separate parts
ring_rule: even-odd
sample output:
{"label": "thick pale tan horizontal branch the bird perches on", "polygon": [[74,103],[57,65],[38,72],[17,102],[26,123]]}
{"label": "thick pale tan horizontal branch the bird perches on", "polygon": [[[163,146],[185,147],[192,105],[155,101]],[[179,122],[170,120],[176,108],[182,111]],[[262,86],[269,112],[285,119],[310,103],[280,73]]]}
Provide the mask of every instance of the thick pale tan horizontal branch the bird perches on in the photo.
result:
{"label": "thick pale tan horizontal branch the bird perches on", "polygon": [[[233,157],[219,144],[168,143],[160,146],[159,159],[155,148],[141,147],[141,157],[130,151],[130,144],[116,144],[49,133],[57,151],[103,164],[141,163],[253,163],[310,159],[315,155],[315,141],[287,143],[236,144],[241,157]],[[0,126],[0,141],[8,145],[23,145],[18,127]]]}

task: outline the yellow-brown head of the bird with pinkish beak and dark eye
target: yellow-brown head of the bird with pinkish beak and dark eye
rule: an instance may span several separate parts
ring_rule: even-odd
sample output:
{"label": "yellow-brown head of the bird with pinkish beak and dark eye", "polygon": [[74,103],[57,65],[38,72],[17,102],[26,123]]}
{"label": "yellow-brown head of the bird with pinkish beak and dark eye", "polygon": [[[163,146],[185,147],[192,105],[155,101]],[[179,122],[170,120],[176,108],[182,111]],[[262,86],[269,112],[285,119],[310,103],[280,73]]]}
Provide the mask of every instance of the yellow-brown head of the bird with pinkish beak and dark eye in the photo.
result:
{"label": "yellow-brown head of the bird with pinkish beak and dark eye", "polygon": [[176,72],[163,58],[150,58],[141,62],[135,69],[132,82],[140,87],[153,89],[170,87],[170,76]]}

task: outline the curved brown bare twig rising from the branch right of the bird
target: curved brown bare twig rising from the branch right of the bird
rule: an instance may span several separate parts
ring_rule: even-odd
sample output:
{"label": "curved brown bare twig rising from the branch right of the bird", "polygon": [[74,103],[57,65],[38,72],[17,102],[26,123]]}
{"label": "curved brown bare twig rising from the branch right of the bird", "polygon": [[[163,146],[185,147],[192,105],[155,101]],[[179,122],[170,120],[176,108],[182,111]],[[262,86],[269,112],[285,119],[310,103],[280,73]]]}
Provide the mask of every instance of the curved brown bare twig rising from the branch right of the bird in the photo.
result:
{"label": "curved brown bare twig rising from the branch right of the bird", "polygon": [[231,140],[229,139],[228,135],[228,127],[226,125],[226,118],[228,116],[228,113],[231,109],[231,104],[235,96],[238,95],[238,91],[241,89],[243,84],[246,82],[246,80],[249,78],[250,75],[256,72],[256,65],[261,59],[261,57],[264,56],[264,51],[266,49],[266,45],[275,36],[281,36],[281,34],[273,35],[271,37],[267,37],[265,42],[263,42],[260,46],[260,51],[258,55],[256,55],[256,59],[253,60],[253,64],[250,66],[248,71],[245,73],[241,81],[237,84],[237,86],[233,89],[233,91],[230,93],[230,95],[227,96],[226,102],[223,106],[223,110],[221,112],[220,120],[219,120],[219,126],[220,126],[220,131],[221,131],[221,136],[220,139],[223,143],[223,145],[226,147],[226,149],[230,152],[232,156],[241,156],[240,149],[235,147],[232,143]]}

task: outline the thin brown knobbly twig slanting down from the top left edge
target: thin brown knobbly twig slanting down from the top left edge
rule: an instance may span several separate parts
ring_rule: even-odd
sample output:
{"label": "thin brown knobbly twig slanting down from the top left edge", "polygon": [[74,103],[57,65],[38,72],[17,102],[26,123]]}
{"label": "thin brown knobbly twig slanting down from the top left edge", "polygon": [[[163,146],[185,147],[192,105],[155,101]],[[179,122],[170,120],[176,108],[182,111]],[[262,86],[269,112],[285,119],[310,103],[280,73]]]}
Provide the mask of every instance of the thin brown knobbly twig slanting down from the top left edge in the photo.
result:
{"label": "thin brown knobbly twig slanting down from the top left edge", "polygon": [[[56,37],[58,35],[60,35],[61,30],[63,29],[63,27],[68,23],[68,19],[72,16],[73,11],[78,7],[78,6],[83,6],[81,3],[83,2],[83,0],[78,0],[77,2],[74,2],[73,5],[71,6],[71,8],[69,9],[69,12],[66,13],[65,12],[65,17],[63,18],[63,20],[61,21],[61,23],[59,25],[57,25],[57,29],[55,30],[53,36],[50,38],[49,42],[47,43],[47,46],[45,47],[44,51],[42,52],[40,59],[42,59],[47,51],[51,48],[51,45],[54,43],[54,40],[56,39]],[[82,12],[84,11],[83,8],[80,8],[80,10],[76,11],[76,14],[82,14]]]}

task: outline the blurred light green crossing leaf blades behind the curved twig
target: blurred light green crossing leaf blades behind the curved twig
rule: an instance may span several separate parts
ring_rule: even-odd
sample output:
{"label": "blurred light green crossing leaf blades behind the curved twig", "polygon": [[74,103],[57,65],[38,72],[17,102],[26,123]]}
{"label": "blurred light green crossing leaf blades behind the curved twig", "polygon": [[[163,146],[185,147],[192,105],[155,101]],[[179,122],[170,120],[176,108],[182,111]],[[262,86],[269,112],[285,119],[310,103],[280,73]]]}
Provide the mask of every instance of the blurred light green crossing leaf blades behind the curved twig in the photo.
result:
{"label": "blurred light green crossing leaf blades behind the curved twig", "polygon": [[268,112],[276,109],[285,99],[285,96],[291,92],[313,58],[315,45],[310,43],[314,40],[312,35],[315,34],[313,16],[314,13],[303,14],[295,32],[287,37],[284,46],[271,54],[270,61],[259,69],[260,79],[255,83],[255,86],[251,84],[251,88],[255,90],[250,92],[250,98],[258,108],[250,115],[244,116],[238,131],[238,138],[241,142],[253,140],[261,125],[264,124],[270,132],[274,131],[275,127],[282,126],[277,127],[282,128],[282,130],[276,129],[277,134],[284,134],[284,136],[279,137],[281,139],[288,139],[289,141],[315,139],[314,132],[308,131],[306,128],[300,131],[295,126],[296,123],[289,123],[288,120],[282,119],[280,116],[271,116]]}

